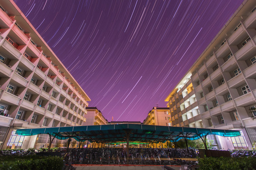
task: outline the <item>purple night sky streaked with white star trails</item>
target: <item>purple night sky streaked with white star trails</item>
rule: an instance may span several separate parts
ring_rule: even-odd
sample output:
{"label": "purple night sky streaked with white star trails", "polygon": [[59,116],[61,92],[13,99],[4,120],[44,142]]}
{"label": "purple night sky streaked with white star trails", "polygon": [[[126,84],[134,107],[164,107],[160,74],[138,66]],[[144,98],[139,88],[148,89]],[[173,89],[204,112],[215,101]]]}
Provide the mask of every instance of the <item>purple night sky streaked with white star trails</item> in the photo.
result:
{"label": "purple night sky streaked with white star trails", "polygon": [[111,121],[143,121],[243,0],[14,0]]}

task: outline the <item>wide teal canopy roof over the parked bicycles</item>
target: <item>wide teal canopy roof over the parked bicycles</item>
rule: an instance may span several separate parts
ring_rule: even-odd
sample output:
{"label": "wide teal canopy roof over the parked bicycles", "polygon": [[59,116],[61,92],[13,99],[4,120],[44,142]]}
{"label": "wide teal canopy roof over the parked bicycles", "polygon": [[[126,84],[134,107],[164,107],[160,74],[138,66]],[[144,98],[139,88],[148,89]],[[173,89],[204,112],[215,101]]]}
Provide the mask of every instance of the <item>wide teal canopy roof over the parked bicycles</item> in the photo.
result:
{"label": "wide teal canopy roof over the parked bicycles", "polygon": [[57,139],[74,138],[77,141],[90,142],[119,142],[126,141],[141,142],[165,142],[178,141],[182,138],[196,140],[206,135],[240,136],[238,130],[221,130],[192,127],[167,127],[155,125],[118,124],[118,125],[94,125],[76,127],[47,127],[32,129],[17,129],[17,135],[32,136],[48,134]]}

